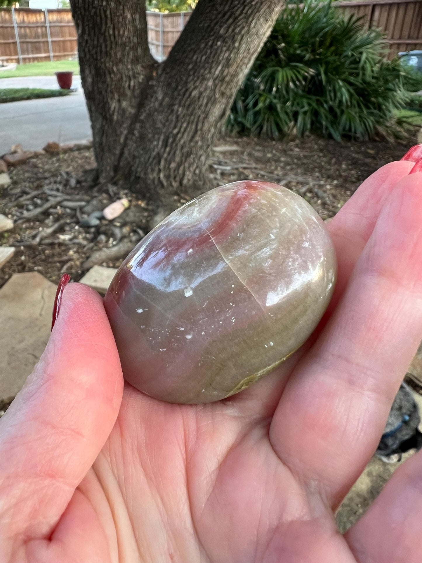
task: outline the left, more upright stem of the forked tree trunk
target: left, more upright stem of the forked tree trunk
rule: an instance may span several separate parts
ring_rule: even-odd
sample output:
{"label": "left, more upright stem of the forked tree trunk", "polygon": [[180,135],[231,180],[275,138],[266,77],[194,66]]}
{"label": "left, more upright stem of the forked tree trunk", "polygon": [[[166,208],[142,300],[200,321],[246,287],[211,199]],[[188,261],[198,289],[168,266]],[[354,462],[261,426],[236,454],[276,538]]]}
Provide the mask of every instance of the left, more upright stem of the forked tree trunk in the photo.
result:
{"label": "left, more upright stem of the forked tree trunk", "polygon": [[70,6],[98,172],[110,181],[158,66],[148,46],[145,0],[70,0]]}

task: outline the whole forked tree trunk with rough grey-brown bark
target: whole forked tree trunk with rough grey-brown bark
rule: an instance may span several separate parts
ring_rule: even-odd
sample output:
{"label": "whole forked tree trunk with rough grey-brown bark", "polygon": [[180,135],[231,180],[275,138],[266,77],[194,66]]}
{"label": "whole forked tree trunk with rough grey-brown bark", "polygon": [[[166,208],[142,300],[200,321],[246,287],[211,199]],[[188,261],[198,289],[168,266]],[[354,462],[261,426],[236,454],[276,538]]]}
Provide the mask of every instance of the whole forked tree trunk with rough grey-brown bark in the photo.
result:
{"label": "whole forked tree trunk with rough grey-brown bark", "polygon": [[199,0],[167,60],[141,0],[71,0],[100,179],[157,207],[209,186],[206,161],[283,0]]}

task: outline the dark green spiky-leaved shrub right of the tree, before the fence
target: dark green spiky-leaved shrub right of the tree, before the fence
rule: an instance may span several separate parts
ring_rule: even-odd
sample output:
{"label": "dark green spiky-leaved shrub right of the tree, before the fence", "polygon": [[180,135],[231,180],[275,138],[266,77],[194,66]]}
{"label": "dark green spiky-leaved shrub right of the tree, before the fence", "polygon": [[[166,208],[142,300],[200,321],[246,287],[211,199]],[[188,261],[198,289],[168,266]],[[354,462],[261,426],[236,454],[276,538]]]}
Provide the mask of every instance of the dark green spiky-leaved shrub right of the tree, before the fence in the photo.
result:
{"label": "dark green spiky-leaved shrub right of the tree, before the fence", "polygon": [[286,7],[237,93],[228,128],[336,140],[399,133],[405,69],[384,58],[385,48],[378,31],[356,16],[343,19],[330,3]]}

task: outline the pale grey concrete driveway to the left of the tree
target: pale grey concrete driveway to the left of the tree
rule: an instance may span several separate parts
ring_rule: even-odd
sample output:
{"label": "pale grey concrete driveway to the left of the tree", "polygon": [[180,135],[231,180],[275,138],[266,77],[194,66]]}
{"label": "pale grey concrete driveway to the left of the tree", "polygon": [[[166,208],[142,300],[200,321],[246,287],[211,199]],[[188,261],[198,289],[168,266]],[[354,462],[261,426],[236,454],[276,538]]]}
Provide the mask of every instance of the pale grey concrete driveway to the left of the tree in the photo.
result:
{"label": "pale grey concrete driveway to the left of the tree", "polygon": [[[0,88],[58,88],[55,76],[1,78]],[[69,96],[0,104],[0,155],[20,143],[42,149],[48,141],[68,143],[92,138],[80,78],[74,77]]]}

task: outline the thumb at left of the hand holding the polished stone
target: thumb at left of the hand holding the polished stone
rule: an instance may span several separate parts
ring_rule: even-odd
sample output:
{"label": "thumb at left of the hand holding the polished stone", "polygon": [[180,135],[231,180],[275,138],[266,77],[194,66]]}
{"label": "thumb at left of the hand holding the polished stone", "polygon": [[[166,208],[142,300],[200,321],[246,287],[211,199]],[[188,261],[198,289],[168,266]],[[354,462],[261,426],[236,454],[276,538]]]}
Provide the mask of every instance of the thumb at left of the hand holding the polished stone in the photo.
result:
{"label": "thumb at left of the hand holding the polished stone", "polygon": [[48,536],[115,423],[123,378],[101,297],[70,284],[44,354],[0,419],[0,529]]}

